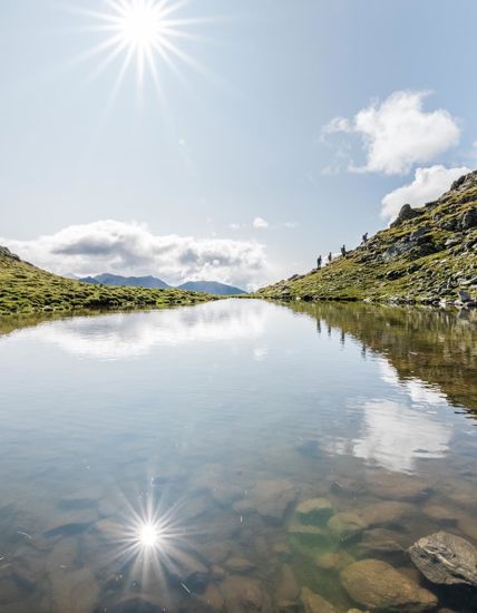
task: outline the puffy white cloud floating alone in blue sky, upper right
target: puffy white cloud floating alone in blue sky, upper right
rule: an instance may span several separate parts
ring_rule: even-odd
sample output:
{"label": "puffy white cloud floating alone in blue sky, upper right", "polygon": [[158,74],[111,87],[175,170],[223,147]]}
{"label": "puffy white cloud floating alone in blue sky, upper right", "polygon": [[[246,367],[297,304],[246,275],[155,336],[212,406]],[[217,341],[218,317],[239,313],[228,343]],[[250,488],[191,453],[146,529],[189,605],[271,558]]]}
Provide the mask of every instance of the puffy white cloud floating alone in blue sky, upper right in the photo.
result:
{"label": "puffy white cloud floating alone in blue sky, upper right", "polygon": [[352,119],[335,117],[324,126],[323,137],[337,133],[360,137],[366,163],[350,162],[349,171],[406,174],[413,164],[429,162],[459,142],[456,118],[442,108],[425,110],[427,96],[429,91],[395,91]]}

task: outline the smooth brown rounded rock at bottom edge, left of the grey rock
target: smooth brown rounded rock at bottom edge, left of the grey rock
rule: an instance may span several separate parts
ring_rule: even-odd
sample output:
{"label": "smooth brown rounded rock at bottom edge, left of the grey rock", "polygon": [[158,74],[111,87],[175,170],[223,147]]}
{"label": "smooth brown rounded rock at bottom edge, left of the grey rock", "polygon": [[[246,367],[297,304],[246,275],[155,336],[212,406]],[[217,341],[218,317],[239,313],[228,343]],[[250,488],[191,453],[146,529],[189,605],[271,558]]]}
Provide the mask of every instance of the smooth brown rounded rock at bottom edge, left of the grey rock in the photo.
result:
{"label": "smooth brown rounded rock at bottom edge, left of the grey rock", "polygon": [[380,560],[363,560],[340,573],[349,596],[370,611],[421,613],[437,605],[437,597]]}

